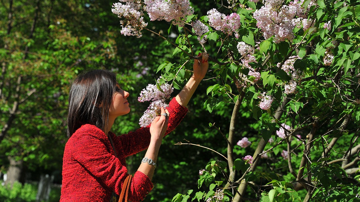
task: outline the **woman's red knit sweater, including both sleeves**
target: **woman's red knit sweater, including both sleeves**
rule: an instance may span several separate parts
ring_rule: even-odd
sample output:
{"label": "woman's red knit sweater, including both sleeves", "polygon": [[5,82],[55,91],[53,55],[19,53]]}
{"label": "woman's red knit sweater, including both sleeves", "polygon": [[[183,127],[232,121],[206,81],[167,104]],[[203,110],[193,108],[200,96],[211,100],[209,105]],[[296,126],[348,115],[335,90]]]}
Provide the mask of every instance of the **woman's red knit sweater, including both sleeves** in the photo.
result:
{"label": "woman's red knit sweater, including both sleeves", "polygon": [[[167,109],[170,116],[166,134],[179,125],[187,112],[175,98]],[[109,134],[117,158],[107,135],[94,125],[82,125],[69,138],[63,157],[60,201],[108,202],[113,191],[120,195],[127,173],[125,157],[147,149],[151,135],[149,127],[122,136]],[[152,188],[148,176],[136,171],[131,181],[129,200],[142,201]]]}

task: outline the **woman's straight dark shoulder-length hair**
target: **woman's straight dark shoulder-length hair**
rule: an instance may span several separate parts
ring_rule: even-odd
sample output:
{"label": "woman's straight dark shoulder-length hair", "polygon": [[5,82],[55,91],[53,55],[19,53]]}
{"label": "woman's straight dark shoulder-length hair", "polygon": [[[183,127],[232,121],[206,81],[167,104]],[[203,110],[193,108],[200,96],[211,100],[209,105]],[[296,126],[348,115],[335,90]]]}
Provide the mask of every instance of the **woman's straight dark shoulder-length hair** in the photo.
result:
{"label": "woman's straight dark shoulder-length hair", "polygon": [[97,69],[78,75],[69,92],[68,138],[84,124],[95,125],[106,132],[116,83],[116,75],[108,70]]}

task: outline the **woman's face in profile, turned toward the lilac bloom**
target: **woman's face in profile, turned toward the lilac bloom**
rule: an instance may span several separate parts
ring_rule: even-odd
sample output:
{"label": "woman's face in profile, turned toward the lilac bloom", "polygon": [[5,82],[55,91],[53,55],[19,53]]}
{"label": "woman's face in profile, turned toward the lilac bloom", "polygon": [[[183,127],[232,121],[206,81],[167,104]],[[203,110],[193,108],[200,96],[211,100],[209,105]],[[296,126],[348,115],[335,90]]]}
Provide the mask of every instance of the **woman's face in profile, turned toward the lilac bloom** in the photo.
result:
{"label": "woman's face in profile, turned toward the lilac bloom", "polygon": [[128,92],[120,88],[119,84],[116,84],[116,91],[109,109],[109,118],[116,118],[130,112],[129,102],[126,99],[129,95]]}

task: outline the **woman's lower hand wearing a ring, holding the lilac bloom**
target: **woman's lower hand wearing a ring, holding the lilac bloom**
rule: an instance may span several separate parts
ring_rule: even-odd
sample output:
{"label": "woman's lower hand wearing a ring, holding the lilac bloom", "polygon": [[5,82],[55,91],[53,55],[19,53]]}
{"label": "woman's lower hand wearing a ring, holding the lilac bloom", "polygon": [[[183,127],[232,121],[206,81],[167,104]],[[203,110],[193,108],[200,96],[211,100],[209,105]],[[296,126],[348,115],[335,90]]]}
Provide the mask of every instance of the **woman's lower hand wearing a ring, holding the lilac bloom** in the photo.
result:
{"label": "woman's lower hand wearing a ring, holding the lilac bloom", "polygon": [[161,141],[165,135],[167,129],[167,121],[169,119],[169,111],[161,107],[161,114],[167,114],[157,116],[150,125],[150,134],[152,141]]}

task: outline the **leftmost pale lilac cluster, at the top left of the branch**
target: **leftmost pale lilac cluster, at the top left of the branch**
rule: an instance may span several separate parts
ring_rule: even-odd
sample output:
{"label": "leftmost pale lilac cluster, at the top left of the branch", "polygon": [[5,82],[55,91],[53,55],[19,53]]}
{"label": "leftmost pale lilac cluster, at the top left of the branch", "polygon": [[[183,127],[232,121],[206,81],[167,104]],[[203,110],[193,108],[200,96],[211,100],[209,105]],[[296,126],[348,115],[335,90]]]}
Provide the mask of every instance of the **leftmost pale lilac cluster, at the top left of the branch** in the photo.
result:
{"label": "leftmost pale lilac cluster, at the top left of the branch", "polygon": [[121,33],[124,36],[143,36],[141,30],[148,25],[144,22],[143,12],[141,11],[141,2],[139,0],[120,0],[125,3],[114,3],[111,11],[118,15],[121,23]]}

